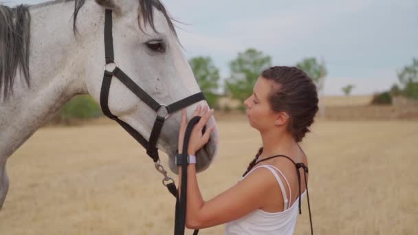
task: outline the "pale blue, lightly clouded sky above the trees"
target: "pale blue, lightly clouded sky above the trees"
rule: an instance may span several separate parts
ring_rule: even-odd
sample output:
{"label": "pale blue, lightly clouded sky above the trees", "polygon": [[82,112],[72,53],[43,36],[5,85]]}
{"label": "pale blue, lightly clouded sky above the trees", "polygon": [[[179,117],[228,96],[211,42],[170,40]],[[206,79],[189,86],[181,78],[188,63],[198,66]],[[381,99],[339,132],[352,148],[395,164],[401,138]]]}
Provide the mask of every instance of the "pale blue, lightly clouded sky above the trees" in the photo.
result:
{"label": "pale blue, lightly clouded sky above the trees", "polygon": [[[7,5],[42,0],[0,0]],[[273,65],[323,58],[326,95],[386,91],[397,71],[418,58],[417,0],[163,0],[182,24],[187,58],[210,56],[221,72],[239,52],[255,48]]]}

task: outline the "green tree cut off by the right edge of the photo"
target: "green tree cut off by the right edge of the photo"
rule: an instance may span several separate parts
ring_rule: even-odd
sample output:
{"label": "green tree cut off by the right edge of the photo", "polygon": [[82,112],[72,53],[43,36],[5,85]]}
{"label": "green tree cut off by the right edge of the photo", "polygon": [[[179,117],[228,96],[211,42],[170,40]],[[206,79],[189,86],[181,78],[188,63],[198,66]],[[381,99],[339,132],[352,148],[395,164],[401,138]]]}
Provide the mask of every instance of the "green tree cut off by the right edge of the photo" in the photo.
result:
{"label": "green tree cut off by the right edge of the photo", "polygon": [[397,72],[399,82],[404,86],[402,93],[407,98],[418,99],[418,58],[412,58],[412,65],[406,65]]}

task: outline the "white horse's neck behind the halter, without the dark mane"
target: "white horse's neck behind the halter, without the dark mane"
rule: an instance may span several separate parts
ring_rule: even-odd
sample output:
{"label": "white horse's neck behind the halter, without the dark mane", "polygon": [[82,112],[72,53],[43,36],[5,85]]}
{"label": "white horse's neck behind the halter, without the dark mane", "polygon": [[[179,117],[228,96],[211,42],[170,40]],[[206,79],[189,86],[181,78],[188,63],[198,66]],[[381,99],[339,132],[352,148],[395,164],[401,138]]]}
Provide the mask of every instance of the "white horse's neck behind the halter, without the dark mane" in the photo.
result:
{"label": "white horse's neck behind the halter, without the dark mane", "polygon": [[86,53],[98,40],[93,35],[104,21],[89,14],[94,10],[90,2],[80,10],[77,38],[72,27],[74,2],[30,8],[30,88],[17,73],[13,96],[0,102],[0,160],[12,155],[68,100],[87,93]]}

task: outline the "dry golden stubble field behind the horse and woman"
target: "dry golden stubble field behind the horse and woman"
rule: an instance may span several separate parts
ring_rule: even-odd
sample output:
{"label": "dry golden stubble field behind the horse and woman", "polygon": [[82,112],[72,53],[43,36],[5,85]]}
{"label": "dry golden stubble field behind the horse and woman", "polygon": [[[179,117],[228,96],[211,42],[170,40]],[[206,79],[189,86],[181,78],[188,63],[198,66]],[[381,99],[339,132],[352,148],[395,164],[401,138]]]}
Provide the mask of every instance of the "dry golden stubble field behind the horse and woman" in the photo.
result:
{"label": "dry golden stubble field behind the horse and woman", "polygon": [[[205,199],[236,183],[261,146],[245,117],[218,124],[219,156],[199,174]],[[418,234],[418,121],[322,120],[312,131],[302,146],[315,234]],[[8,174],[1,235],[173,234],[175,200],[115,124],[41,128],[9,159]],[[306,199],[302,211],[296,234],[309,234]]]}

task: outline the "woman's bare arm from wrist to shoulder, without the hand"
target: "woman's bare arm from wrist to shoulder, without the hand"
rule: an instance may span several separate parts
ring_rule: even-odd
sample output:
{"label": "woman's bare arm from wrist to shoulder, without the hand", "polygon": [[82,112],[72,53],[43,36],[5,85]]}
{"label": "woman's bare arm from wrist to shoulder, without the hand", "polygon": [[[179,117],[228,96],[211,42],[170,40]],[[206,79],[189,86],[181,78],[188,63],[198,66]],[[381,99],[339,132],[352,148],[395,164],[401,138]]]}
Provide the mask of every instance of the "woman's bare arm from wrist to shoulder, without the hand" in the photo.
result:
{"label": "woman's bare arm from wrist to shoulder, without the hand", "polygon": [[[181,170],[179,172],[181,177]],[[204,201],[194,164],[188,166],[187,180],[186,227],[191,229],[212,227],[239,219],[262,208],[265,195],[272,193],[272,188],[277,188],[274,187],[277,184],[274,176],[267,169],[259,168],[232,188],[210,201]]]}

